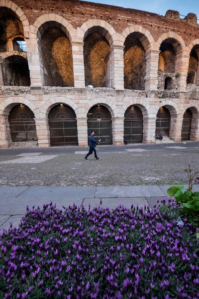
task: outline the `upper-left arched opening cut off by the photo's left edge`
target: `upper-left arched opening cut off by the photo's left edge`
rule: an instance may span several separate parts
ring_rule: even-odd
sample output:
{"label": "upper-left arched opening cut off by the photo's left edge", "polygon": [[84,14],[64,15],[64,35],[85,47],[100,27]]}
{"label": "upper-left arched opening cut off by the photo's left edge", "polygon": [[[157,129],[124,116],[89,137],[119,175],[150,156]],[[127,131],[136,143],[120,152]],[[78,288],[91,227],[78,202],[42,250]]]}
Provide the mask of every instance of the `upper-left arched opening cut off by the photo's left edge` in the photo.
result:
{"label": "upper-left arched opening cut off by the photo's left edge", "polygon": [[16,13],[10,8],[0,7],[0,52],[13,51],[9,40],[15,36],[23,36],[23,34],[23,24]]}

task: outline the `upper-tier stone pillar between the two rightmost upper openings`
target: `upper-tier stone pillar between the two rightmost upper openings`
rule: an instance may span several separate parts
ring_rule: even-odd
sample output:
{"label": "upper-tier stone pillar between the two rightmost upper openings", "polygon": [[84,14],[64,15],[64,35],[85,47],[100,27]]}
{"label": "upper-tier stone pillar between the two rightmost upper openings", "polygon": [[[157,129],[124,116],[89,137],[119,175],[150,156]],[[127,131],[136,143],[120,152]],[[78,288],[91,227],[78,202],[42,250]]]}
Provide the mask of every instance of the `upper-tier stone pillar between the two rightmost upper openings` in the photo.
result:
{"label": "upper-tier stone pillar between the two rightmost upper openings", "polygon": [[187,89],[187,75],[189,69],[190,55],[186,53],[179,53],[176,55],[175,73],[180,74],[179,90]]}

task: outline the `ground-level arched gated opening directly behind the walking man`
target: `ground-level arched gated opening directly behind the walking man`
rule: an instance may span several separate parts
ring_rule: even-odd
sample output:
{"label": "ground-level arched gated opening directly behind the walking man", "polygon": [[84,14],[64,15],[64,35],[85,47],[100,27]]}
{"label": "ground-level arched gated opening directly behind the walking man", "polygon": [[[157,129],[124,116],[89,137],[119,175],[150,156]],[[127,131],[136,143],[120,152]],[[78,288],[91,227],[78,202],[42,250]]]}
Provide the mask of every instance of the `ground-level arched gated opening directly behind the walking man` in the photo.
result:
{"label": "ground-level arched gated opening directly behind the walking man", "polygon": [[96,140],[101,139],[100,145],[112,144],[112,120],[108,109],[102,105],[93,106],[88,112],[88,141],[91,131],[95,131]]}

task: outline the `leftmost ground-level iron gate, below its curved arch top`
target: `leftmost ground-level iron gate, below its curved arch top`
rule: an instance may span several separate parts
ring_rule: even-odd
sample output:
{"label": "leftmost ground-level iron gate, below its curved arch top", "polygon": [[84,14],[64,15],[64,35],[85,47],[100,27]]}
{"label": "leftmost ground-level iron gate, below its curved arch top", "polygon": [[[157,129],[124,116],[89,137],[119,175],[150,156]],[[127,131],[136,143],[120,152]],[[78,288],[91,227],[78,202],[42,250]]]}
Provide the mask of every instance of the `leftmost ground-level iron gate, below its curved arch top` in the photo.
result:
{"label": "leftmost ground-level iron gate, below its curved arch top", "polygon": [[9,130],[12,142],[37,141],[33,119],[9,119]]}

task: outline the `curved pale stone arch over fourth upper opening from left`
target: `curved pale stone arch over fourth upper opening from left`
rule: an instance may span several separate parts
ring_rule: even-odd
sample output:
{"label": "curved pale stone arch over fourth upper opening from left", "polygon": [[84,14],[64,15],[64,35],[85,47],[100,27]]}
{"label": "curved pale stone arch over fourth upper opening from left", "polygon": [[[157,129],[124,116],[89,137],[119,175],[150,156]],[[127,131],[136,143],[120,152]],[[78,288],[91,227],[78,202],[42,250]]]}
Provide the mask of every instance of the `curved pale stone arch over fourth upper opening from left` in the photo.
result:
{"label": "curved pale stone arch over fourth upper opening from left", "polygon": [[154,42],[154,38],[151,35],[150,31],[139,25],[131,25],[125,28],[121,35],[126,39],[126,37],[128,37],[132,33],[136,33],[135,37],[139,39],[145,51],[150,48],[151,44]]}

